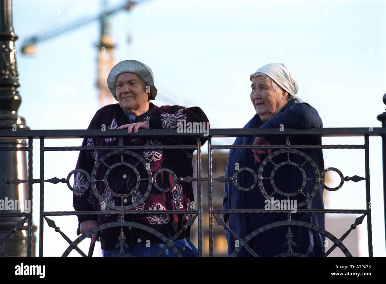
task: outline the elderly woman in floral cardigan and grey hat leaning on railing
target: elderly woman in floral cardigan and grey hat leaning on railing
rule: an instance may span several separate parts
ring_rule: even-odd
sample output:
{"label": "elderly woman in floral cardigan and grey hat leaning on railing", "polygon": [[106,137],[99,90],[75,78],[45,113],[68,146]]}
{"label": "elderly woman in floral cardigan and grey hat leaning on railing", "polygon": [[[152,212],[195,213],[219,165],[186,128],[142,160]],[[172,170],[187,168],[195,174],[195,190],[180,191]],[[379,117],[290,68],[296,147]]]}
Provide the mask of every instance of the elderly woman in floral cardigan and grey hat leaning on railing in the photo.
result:
{"label": "elderly woman in floral cardigan and grey hat leaning on railing", "polygon": [[[150,102],[156,98],[157,89],[151,69],[135,60],[125,60],[115,65],[107,79],[108,87],[118,104],[107,105],[98,110],[88,129],[123,129],[137,133],[142,129],[177,128],[179,122],[208,123],[199,107],[164,105],[158,107]],[[206,139],[201,142],[205,143]],[[129,137],[124,146],[195,145],[196,138],[173,139],[155,136],[150,138]],[[82,146],[118,146],[118,138],[84,139]],[[157,186],[149,180],[163,168],[172,170],[177,177],[193,176],[191,149],[163,150],[82,150],[76,169],[85,170],[95,183],[87,186],[85,176],[77,172],[74,177],[73,206],[76,211],[105,210],[106,215],[79,215],[81,233],[101,224],[130,221],[145,225],[149,230],[124,227],[124,252],[137,257],[154,256],[164,246],[163,241],[151,233],[151,229],[171,239],[180,231],[191,214],[108,214],[113,209],[131,210],[189,210],[193,209],[191,182],[176,181],[168,172],[161,171]],[[149,175],[151,172],[151,175]],[[162,190],[167,189],[167,190]],[[82,191],[83,190],[83,191]],[[128,195],[123,198],[122,196]],[[123,218],[123,219],[122,219]],[[154,231],[153,231],[154,232]],[[103,256],[119,253],[120,227],[102,230],[100,233]],[[197,249],[189,240],[190,227],[174,241],[183,256],[198,256]],[[91,236],[90,236],[91,237]],[[99,239],[93,233],[91,244]],[[161,256],[174,256],[168,248]]]}

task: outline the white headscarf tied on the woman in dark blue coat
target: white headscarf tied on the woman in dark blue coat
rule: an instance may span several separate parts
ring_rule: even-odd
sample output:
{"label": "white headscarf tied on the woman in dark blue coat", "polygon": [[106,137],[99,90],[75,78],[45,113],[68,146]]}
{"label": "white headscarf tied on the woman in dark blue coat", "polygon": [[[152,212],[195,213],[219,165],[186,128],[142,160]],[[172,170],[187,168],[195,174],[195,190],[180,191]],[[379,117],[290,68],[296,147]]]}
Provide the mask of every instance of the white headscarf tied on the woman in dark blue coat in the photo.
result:
{"label": "white headscarf tied on the woman in dark blue coat", "polygon": [[283,63],[269,63],[257,69],[255,73],[251,74],[249,80],[252,81],[252,77],[265,74],[271,78],[279,87],[286,90],[289,94],[295,97],[296,102],[303,102],[300,97],[295,96],[298,93],[299,86],[298,80],[292,70],[290,70]]}

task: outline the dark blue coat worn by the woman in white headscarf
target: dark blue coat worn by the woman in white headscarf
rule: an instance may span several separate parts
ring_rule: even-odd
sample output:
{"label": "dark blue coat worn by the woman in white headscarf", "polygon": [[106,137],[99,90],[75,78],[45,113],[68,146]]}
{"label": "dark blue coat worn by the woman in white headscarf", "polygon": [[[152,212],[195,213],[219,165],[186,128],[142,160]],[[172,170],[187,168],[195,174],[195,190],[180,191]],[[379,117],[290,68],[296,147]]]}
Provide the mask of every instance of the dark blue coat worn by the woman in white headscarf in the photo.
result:
{"label": "dark blue coat worn by the woman in white headscarf", "polygon": [[[286,104],[281,111],[266,122],[262,122],[256,114],[244,128],[280,128],[283,124],[284,128],[322,128],[322,119],[316,109],[307,103],[296,103],[291,100]],[[236,138],[233,145],[252,145],[255,137],[239,137]],[[284,145],[285,137],[270,136],[266,139],[272,145]],[[290,137],[289,142],[292,145],[321,145],[321,137]],[[315,162],[316,167],[312,163],[306,162],[303,165],[303,170],[307,178],[315,178],[315,170],[319,173],[324,169],[322,149],[297,149],[308,155]],[[274,151],[274,150],[273,150]],[[261,157],[263,161],[267,155]],[[281,153],[275,156],[272,160],[277,165],[287,160],[287,154]],[[295,153],[289,155],[291,162],[302,165],[306,159]],[[239,168],[248,167],[254,170],[257,174],[260,163],[255,164],[254,156],[251,149],[232,149],[229,152],[226,176],[233,177],[235,173],[235,165],[239,163]],[[314,165],[315,165],[314,164]],[[268,162],[263,170],[262,177],[269,177],[271,170],[274,168],[273,163]],[[247,171],[242,171],[237,176],[237,182],[242,187],[249,187],[254,184],[254,177]],[[284,193],[296,192],[299,190],[303,182],[301,171],[293,165],[283,165],[274,173],[274,184]],[[268,195],[272,194],[274,189],[270,180],[263,180],[264,190]],[[305,201],[310,195],[315,195],[311,201],[306,203],[299,209],[324,209],[323,205],[323,187],[321,185],[315,187],[315,180],[306,180],[305,187],[302,192],[296,196],[291,196],[290,199],[296,199],[297,204]],[[277,192],[273,194],[274,199],[287,199],[288,197],[279,195]],[[266,198],[262,195],[259,186],[256,185],[249,191],[242,191],[235,187],[232,181],[225,182],[225,197],[223,198],[223,209],[264,209]],[[273,208],[272,208],[273,209]],[[237,213],[224,214],[224,219],[229,217],[229,226],[241,239],[245,238],[249,233],[269,223],[288,219],[286,213]],[[324,214],[323,213],[295,213],[291,214],[291,220],[303,221],[314,224],[324,229]],[[292,241],[296,246],[291,246],[293,252],[301,253],[309,257],[320,257],[324,254],[325,237],[320,233],[300,226],[290,226],[293,235]],[[288,226],[278,226],[271,228],[252,238],[248,245],[257,253],[259,257],[273,257],[280,253],[288,252],[288,245],[284,245],[287,241],[286,234]],[[228,241],[228,254],[230,255],[235,248],[235,238],[226,231]],[[251,256],[244,248],[241,248],[237,254],[239,257]]]}

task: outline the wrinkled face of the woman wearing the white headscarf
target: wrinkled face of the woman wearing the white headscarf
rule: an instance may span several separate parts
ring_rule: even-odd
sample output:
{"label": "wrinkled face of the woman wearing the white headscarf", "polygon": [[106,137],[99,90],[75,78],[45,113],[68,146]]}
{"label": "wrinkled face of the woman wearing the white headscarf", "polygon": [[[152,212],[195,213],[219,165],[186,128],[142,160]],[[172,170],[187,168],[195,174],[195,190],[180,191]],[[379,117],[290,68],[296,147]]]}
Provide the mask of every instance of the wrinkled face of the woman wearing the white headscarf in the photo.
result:
{"label": "wrinkled face of the woman wearing the white headscarf", "polygon": [[283,90],[274,90],[271,79],[264,75],[252,78],[251,101],[256,113],[262,121],[274,117],[288,103],[288,93]]}

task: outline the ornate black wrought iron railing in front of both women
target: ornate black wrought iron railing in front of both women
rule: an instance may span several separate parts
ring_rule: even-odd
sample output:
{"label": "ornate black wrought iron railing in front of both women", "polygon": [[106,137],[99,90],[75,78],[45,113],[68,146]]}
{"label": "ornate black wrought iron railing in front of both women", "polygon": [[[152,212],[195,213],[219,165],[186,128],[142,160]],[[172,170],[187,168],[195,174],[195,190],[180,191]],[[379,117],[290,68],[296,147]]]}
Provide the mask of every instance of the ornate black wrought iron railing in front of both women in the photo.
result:
{"label": "ornate black wrought iron railing in front of both women", "polygon": [[[7,190],[7,186],[10,184],[19,185],[19,184],[27,184],[28,185],[28,199],[31,201],[31,210],[29,213],[23,213],[23,212],[12,212],[7,213],[7,211],[0,211],[0,217],[20,217],[19,221],[17,221],[14,225],[14,227],[10,230],[10,232],[5,235],[0,240],[0,254],[2,256],[6,256],[6,253],[4,250],[2,250],[2,245],[7,241],[7,239],[15,233],[15,231],[20,230],[21,228],[26,229],[27,231],[27,256],[34,255],[32,252],[33,243],[32,243],[32,212],[34,206],[32,205],[32,185],[33,184],[40,184],[40,204],[39,204],[39,257],[43,256],[43,247],[44,247],[44,220],[46,220],[46,223],[49,227],[54,228],[55,231],[57,231],[68,243],[68,248],[63,252],[62,256],[66,257],[69,252],[72,250],[78,251],[83,257],[91,256],[92,250],[90,249],[89,253],[84,253],[77,245],[84,240],[87,236],[90,236],[91,234],[103,230],[105,228],[112,228],[112,227],[120,227],[121,233],[119,236],[119,243],[117,244],[117,248],[121,248],[120,254],[116,256],[129,256],[125,255],[123,252],[123,248],[127,247],[127,243],[125,243],[125,235],[123,233],[124,227],[131,227],[131,228],[138,228],[139,230],[147,231],[147,233],[151,233],[152,235],[158,237],[160,239],[160,242],[163,242],[165,244],[164,248],[157,254],[160,255],[166,248],[171,248],[171,250],[175,253],[177,257],[181,256],[181,253],[178,251],[178,249],[174,246],[173,241],[178,238],[178,236],[186,230],[187,226],[192,225],[197,222],[197,228],[198,228],[198,251],[199,255],[203,255],[203,210],[208,212],[209,216],[209,256],[213,256],[213,218],[216,220],[218,226],[222,226],[225,230],[229,230],[230,234],[233,235],[233,237],[239,241],[239,246],[235,248],[235,250],[232,252],[231,256],[237,255],[239,250],[241,248],[245,248],[247,252],[249,252],[252,256],[258,256],[256,253],[252,250],[252,248],[249,247],[248,241],[254,238],[259,233],[269,230],[271,228],[275,228],[278,226],[288,226],[288,233],[285,236],[287,241],[286,244],[288,248],[287,251],[276,255],[279,257],[301,257],[304,256],[301,253],[296,253],[292,251],[292,245],[295,244],[298,240],[293,240],[293,236],[291,234],[290,226],[301,226],[308,228],[309,230],[317,231],[318,233],[324,235],[326,238],[331,240],[334,245],[330,247],[327,252],[325,253],[324,257],[328,256],[332,250],[334,250],[336,247],[338,247],[345,256],[350,257],[351,253],[349,250],[343,245],[342,241],[349,235],[350,231],[354,230],[356,226],[362,223],[364,217],[367,217],[367,240],[368,240],[368,253],[369,257],[372,257],[372,230],[371,230],[371,207],[367,206],[370,204],[370,177],[369,177],[369,136],[381,136],[383,138],[383,141],[386,137],[386,129],[385,128],[315,128],[315,129],[284,129],[284,131],[279,131],[279,129],[210,129],[209,135],[207,136],[207,148],[208,148],[208,172],[203,173],[201,172],[201,140],[202,134],[200,133],[177,133],[176,129],[142,129],[139,134],[132,134],[135,137],[149,137],[149,136],[195,136],[196,137],[196,145],[164,145],[164,146],[124,146],[122,141],[123,137],[127,136],[125,129],[122,130],[106,130],[106,131],[100,131],[98,129],[93,130],[0,130],[0,138],[2,139],[23,139],[20,142],[20,147],[1,147],[0,151],[22,151],[26,152],[28,154],[28,176],[26,179],[10,179],[9,177],[5,177],[2,173],[0,173],[0,192]],[[286,145],[261,145],[261,146],[251,146],[251,145],[212,145],[212,138],[217,137],[247,137],[247,136],[285,136],[286,137]],[[361,136],[364,138],[364,143],[360,145],[291,145],[291,141],[289,140],[289,137],[296,137],[296,136]],[[118,146],[103,146],[103,147],[86,147],[86,146],[60,146],[60,147],[47,147],[45,146],[44,142],[46,139],[52,139],[52,138],[111,138],[111,137],[117,137],[119,138],[119,145]],[[24,140],[25,139],[25,140]],[[33,166],[33,155],[32,155],[32,147],[33,147],[33,141],[34,139],[39,139],[40,141],[40,156],[39,156],[39,162],[40,162],[40,175],[38,179],[34,179],[32,177],[32,166]],[[4,141],[4,140],[3,140]],[[10,141],[10,140],[8,140]],[[22,141],[25,141],[23,144]],[[137,203],[138,204],[132,204],[131,206],[112,206],[112,204],[109,204],[107,200],[103,199],[101,197],[97,190],[95,189],[95,169],[98,167],[98,163],[95,165],[93,173],[90,175],[89,173],[85,172],[85,176],[87,177],[87,187],[89,184],[91,184],[91,187],[93,189],[93,193],[95,194],[95,197],[99,201],[105,201],[105,204],[107,207],[109,207],[111,210],[108,212],[109,214],[120,214],[123,216],[123,214],[191,214],[191,217],[187,219],[186,224],[182,227],[180,231],[176,233],[176,235],[173,236],[173,238],[166,238],[164,235],[162,235],[160,232],[147,227],[143,224],[133,223],[133,222],[127,222],[124,221],[124,218],[122,218],[122,221],[113,222],[113,223],[107,223],[102,224],[93,230],[89,230],[83,235],[80,235],[76,240],[71,240],[64,232],[60,230],[60,228],[55,224],[53,220],[49,218],[49,216],[79,216],[79,215],[90,215],[90,214],[106,214],[106,211],[44,211],[44,185],[45,183],[51,183],[51,184],[58,184],[58,183],[66,183],[68,185],[68,188],[72,190],[73,192],[79,192],[79,190],[74,189],[70,184],[70,177],[75,172],[81,172],[81,170],[73,170],[71,171],[66,178],[60,178],[60,177],[50,177],[49,179],[46,179],[44,176],[44,156],[46,152],[49,151],[80,151],[80,150],[111,150],[106,155],[120,155],[121,156],[121,162],[123,162],[122,156],[125,155],[132,155],[136,156],[138,159],[138,162],[136,165],[129,165],[125,164],[126,166],[134,169],[136,167],[142,167],[143,161],[141,160],[141,156],[137,155],[135,151],[143,150],[143,149],[175,149],[175,148],[185,148],[185,149],[194,149],[196,150],[196,175],[197,177],[177,177],[173,171],[170,169],[161,169],[155,172],[154,174],[147,170],[147,177],[141,177],[139,173],[138,180],[147,182],[149,184],[149,190],[150,192],[151,187],[155,187],[157,190],[161,191],[168,191],[169,189],[162,189],[157,185],[155,176],[161,172],[161,171],[167,171],[171,173],[174,177],[174,182],[177,181],[185,181],[185,182],[193,182],[196,184],[196,194],[197,194],[197,208],[192,210],[162,210],[162,211],[152,211],[152,210],[130,210],[134,208],[135,206],[138,206],[141,204],[145,199],[140,199]],[[219,177],[213,177],[212,172],[212,150],[219,150],[219,149],[253,149],[253,148],[264,148],[264,149],[272,149],[273,153],[261,163],[259,172],[256,173],[250,168],[240,168],[233,177],[225,177],[225,174]],[[319,173],[318,168],[316,167],[315,163],[312,161],[310,157],[305,155],[302,151],[299,149],[307,149],[307,148],[320,148],[320,149],[364,149],[364,160],[365,160],[365,176],[360,177],[357,175],[354,175],[352,177],[344,177],[342,172],[338,170],[337,168],[326,168],[321,173]],[[274,151],[276,150],[276,151]],[[385,151],[385,149],[383,149]],[[361,214],[358,218],[353,220],[353,224],[348,228],[348,230],[342,235],[342,236],[334,236],[330,232],[324,230],[323,228],[317,227],[310,223],[305,223],[301,221],[293,221],[291,220],[291,211],[290,210],[282,210],[281,213],[287,213],[288,219],[278,221],[275,223],[267,224],[265,226],[262,226],[261,228],[258,228],[254,230],[252,233],[247,235],[244,239],[241,239],[234,231],[232,231],[227,224],[225,224],[224,220],[222,219],[221,214],[236,214],[236,213],[243,213],[243,214],[265,214],[265,213],[278,213],[277,211],[272,210],[265,210],[265,209],[234,209],[234,210],[222,210],[222,209],[214,209],[213,208],[213,199],[212,199],[212,187],[213,187],[213,181],[218,182],[232,182],[239,190],[251,190],[255,186],[259,188],[262,195],[266,199],[270,199],[270,196],[267,194],[267,192],[264,190],[264,186],[262,185],[262,180],[265,179],[262,177],[262,168],[266,165],[268,162],[272,162],[272,158],[277,155],[278,153],[287,153],[288,154],[288,162],[284,164],[293,164],[289,161],[289,154],[291,155],[300,155],[303,156],[306,159],[306,162],[309,162],[313,169],[315,170],[315,188],[318,188],[319,183],[322,185],[322,187],[329,191],[335,191],[340,189],[346,182],[354,181],[358,182],[360,180],[365,181],[365,187],[366,187],[366,209],[324,209],[324,210],[312,210],[312,209],[297,209],[298,213],[340,213],[340,214]],[[383,164],[385,157],[383,157]],[[103,163],[103,157],[100,158],[99,163]],[[306,163],[305,162],[305,163]],[[75,163],[75,161],[74,161]],[[283,164],[283,165],[284,165]],[[277,167],[280,167],[281,165],[276,165]],[[304,164],[303,164],[304,165]],[[299,170],[302,170],[303,165],[296,165],[296,167],[299,168]],[[110,165],[109,167],[114,167],[114,165]],[[237,174],[239,174],[241,171],[246,170],[251,172],[254,175],[254,184],[250,187],[244,187],[243,185],[239,185],[237,183]],[[340,176],[340,184],[335,188],[330,188],[323,182],[323,176],[325,173],[329,170],[333,170],[337,172]],[[385,169],[384,169],[385,170]],[[305,175],[303,175],[305,177]],[[273,179],[273,174],[271,174],[270,179]],[[308,177],[305,177],[305,180],[309,180]],[[105,182],[105,180],[103,180]],[[202,206],[202,200],[205,198],[202,196],[202,182],[208,182],[208,208],[203,208]],[[87,188],[86,187],[86,188]],[[85,189],[84,189],[85,190]],[[127,198],[130,196],[130,194],[133,194],[132,192],[129,192],[126,196],[120,196],[122,198],[122,204],[124,201],[124,198]],[[285,195],[284,195],[285,196]],[[298,204],[298,207],[302,207],[307,202],[310,202],[312,200],[312,196],[306,199],[306,201],[302,202],[301,204]],[[27,227],[25,227],[25,223],[27,223]],[[217,225],[216,225],[217,226]],[[76,230],[77,224],[74,224],[74,230]],[[225,234],[225,231],[224,231]],[[285,250],[285,249],[284,249]]]}

